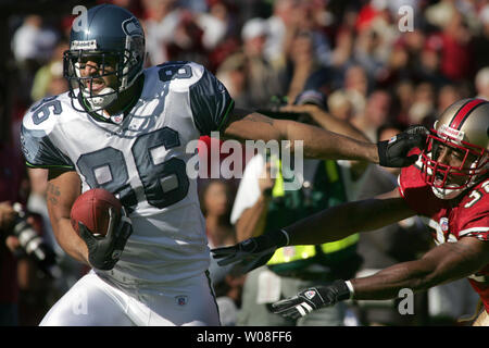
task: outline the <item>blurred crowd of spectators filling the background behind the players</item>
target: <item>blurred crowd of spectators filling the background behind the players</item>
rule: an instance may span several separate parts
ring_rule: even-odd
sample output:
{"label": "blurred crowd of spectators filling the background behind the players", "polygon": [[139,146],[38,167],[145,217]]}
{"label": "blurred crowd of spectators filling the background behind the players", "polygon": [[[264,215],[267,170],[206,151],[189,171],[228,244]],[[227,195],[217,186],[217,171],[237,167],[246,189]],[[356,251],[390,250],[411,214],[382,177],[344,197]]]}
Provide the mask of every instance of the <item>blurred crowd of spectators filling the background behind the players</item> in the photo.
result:
{"label": "blurred crowd of spectators filling the background behind the players", "polygon": [[[87,7],[101,2],[87,2]],[[110,2],[140,18],[148,66],[171,60],[201,63],[223,82],[237,107],[251,110],[272,109],[277,97],[280,102],[297,104],[308,91],[306,103],[351,124],[371,141],[389,138],[412,124],[431,127],[437,115],[459,99],[489,99],[489,0]],[[57,246],[43,201],[47,173],[24,169],[18,139],[27,108],[68,88],[62,57],[73,18],[71,13],[9,16],[8,59],[10,74],[16,78],[9,86],[0,82],[0,88],[10,90],[9,100],[0,100],[0,109],[8,114],[0,144],[2,325],[36,325],[87,271]],[[396,185],[396,172],[387,173],[375,165],[362,175],[365,179],[363,186],[355,187],[354,198],[387,191]],[[201,179],[200,184],[210,247],[242,240],[230,221],[239,178]],[[59,256],[62,279],[47,277],[25,253],[16,251],[15,243],[7,243],[10,239],[4,231],[14,219],[9,204],[3,209],[1,202],[9,201],[18,201],[37,214],[37,231]],[[356,251],[363,263],[358,272],[367,274],[418,257],[429,244],[427,235],[416,220],[393,226],[377,239],[361,237]],[[246,276],[215,264],[211,265],[211,275],[223,324],[236,325]],[[3,286],[5,279],[9,287]],[[465,283],[431,293],[417,298],[415,319],[400,318],[392,303],[351,302],[344,324],[455,325],[457,318],[474,310]]]}

